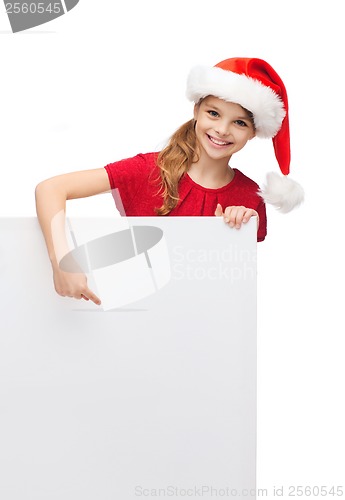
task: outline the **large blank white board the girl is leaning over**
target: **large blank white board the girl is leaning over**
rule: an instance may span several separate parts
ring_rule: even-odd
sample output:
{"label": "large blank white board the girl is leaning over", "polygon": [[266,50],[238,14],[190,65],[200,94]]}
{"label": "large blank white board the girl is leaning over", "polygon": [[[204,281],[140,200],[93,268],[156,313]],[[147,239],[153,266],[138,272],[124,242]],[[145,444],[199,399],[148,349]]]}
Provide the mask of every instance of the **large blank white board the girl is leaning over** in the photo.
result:
{"label": "large blank white board the girl is leaning over", "polygon": [[0,219],[0,498],[255,498],[256,221],[69,222],[78,247],[159,228],[153,290],[60,297],[37,220]]}

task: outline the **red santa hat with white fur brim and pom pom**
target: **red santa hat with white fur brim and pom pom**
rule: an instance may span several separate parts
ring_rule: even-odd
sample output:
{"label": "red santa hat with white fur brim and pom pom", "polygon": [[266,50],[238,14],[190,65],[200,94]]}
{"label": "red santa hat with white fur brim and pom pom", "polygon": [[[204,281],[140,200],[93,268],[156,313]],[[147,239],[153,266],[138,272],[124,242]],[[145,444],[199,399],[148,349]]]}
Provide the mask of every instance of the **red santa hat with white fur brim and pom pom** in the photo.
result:
{"label": "red santa hat with white fur brim and pom pom", "polygon": [[302,187],[290,172],[288,98],[284,83],[262,59],[234,57],[213,67],[196,66],[187,80],[187,97],[197,103],[208,95],[240,104],[253,113],[256,136],[273,141],[283,176],[267,174],[260,194],[281,212],[289,212],[304,198]]}

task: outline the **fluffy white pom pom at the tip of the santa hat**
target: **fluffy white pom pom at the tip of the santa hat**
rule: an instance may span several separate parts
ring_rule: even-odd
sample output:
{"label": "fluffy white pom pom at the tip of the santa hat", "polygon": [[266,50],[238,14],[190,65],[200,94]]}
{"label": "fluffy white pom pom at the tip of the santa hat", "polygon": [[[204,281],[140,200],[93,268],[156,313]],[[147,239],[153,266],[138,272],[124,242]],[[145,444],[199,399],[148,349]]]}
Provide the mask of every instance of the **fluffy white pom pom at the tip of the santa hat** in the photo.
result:
{"label": "fluffy white pom pom at the tip of the santa hat", "polygon": [[274,205],[283,213],[290,212],[304,200],[302,186],[286,175],[279,175],[276,172],[267,174],[266,184],[260,190],[260,195],[265,203]]}

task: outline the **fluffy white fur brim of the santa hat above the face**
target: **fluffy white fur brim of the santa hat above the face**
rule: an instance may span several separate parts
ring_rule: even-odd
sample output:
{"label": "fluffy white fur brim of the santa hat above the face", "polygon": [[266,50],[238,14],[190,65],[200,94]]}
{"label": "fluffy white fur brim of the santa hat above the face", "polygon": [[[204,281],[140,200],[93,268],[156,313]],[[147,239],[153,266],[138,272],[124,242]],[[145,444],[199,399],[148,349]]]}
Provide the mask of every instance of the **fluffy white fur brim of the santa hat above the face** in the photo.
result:
{"label": "fluffy white fur brim of the santa hat above the face", "polygon": [[254,115],[257,137],[272,138],[286,115],[281,98],[259,80],[218,67],[196,66],[187,80],[187,98],[197,103],[213,95],[240,104]]}

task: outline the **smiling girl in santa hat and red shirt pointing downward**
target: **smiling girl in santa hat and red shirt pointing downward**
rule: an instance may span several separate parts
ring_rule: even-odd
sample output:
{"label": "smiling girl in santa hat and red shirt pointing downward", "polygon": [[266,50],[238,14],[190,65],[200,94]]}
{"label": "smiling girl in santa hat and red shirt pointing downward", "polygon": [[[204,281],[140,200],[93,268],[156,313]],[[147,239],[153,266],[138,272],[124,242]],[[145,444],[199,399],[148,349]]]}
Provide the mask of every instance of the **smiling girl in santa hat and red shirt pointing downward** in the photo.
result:
{"label": "smiling girl in santa hat and red shirt pointing downward", "polygon": [[[180,127],[159,153],[139,154],[105,168],[59,175],[36,187],[37,216],[62,296],[100,304],[84,274],[59,269],[51,222],[66,200],[114,190],[127,216],[223,216],[240,229],[256,216],[258,241],[266,236],[265,201],[287,212],[303,199],[301,187],[286,178],[290,164],[288,102],[283,82],[261,59],[232,58],[215,67],[196,67],[187,97],[194,117]],[[259,186],[229,165],[233,154],[253,137],[273,138],[280,169]],[[123,209],[123,210],[122,210]]]}

